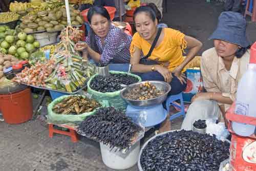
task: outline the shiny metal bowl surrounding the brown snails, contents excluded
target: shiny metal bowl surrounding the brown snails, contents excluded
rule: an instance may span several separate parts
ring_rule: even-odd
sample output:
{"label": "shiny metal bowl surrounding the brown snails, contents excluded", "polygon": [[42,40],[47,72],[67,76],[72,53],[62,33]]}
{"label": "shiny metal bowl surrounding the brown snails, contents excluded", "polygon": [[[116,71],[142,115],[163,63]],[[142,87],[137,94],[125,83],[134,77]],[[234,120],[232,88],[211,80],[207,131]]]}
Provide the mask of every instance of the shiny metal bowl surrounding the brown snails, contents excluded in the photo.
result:
{"label": "shiny metal bowl surrounding the brown snails, contents excluded", "polygon": [[[129,90],[131,90],[131,89],[137,87],[139,84],[145,83],[145,82],[150,82],[150,83],[154,84],[154,86],[156,86],[156,89],[164,91],[164,94],[161,96],[158,96],[156,98],[148,99],[148,100],[132,100],[132,99],[127,99],[124,97],[129,92]],[[164,82],[164,81],[142,81],[142,82],[130,84],[126,88],[122,89],[120,92],[120,96],[126,103],[128,103],[132,106],[144,107],[144,106],[153,106],[153,105],[161,104],[166,99],[169,91],[170,91],[170,84],[168,84],[167,82]]]}

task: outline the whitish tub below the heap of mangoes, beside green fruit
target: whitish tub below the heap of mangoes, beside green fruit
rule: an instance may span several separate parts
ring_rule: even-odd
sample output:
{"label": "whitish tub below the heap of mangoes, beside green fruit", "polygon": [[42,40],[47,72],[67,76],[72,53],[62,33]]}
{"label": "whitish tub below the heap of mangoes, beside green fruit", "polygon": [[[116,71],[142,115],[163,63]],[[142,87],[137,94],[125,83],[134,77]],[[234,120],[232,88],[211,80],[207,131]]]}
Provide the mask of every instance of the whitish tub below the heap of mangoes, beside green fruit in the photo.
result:
{"label": "whitish tub below the heap of mangoes, beside green fruit", "polygon": [[40,47],[57,42],[57,32],[54,33],[36,33],[35,39],[40,42]]}

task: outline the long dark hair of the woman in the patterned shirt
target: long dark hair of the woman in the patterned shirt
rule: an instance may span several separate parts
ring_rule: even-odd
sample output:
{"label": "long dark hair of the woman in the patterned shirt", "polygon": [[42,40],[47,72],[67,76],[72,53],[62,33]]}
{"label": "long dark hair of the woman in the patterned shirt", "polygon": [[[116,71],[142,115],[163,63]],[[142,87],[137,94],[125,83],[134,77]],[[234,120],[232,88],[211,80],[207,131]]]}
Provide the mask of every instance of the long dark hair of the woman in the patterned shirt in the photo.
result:
{"label": "long dark hair of the woman in the patterned shirt", "polygon": [[[105,17],[106,19],[108,19],[109,22],[111,21],[110,14],[104,7],[93,6],[92,8],[90,8],[90,10],[88,11],[88,14],[87,14],[88,22],[90,24],[92,22],[92,17],[94,14],[99,14],[99,15]],[[90,43],[91,43],[91,48],[95,52],[99,53],[99,48],[96,44],[96,39],[95,39],[95,32],[93,31],[92,28],[90,29]]]}

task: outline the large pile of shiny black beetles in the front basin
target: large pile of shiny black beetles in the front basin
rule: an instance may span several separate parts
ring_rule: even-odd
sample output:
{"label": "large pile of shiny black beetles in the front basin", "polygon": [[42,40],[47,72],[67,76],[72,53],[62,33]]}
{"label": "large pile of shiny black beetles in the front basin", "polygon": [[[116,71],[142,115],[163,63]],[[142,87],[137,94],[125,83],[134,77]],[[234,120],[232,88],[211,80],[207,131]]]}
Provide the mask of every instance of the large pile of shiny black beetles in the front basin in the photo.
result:
{"label": "large pile of shiny black beetles in the front basin", "polygon": [[229,143],[193,131],[159,135],[142,150],[143,170],[216,171],[229,157]]}

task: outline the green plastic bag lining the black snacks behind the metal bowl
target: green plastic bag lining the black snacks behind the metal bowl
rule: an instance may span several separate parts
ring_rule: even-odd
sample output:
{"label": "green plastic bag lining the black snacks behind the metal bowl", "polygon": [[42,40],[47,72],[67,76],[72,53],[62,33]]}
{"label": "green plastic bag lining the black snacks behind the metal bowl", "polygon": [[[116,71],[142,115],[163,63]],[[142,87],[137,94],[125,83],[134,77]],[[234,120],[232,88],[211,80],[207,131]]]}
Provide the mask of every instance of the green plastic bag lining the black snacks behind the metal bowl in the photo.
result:
{"label": "green plastic bag lining the black snacks behind the metal bowl", "polygon": [[[111,74],[127,74],[126,72],[121,71],[110,71]],[[114,106],[116,109],[125,110],[126,109],[126,102],[120,97],[120,91],[116,92],[109,92],[109,93],[101,93],[98,91],[95,91],[90,88],[91,81],[96,77],[98,74],[95,74],[90,78],[90,80],[87,82],[87,91],[89,94],[93,96],[96,100],[102,100],[104,103],[108,104],[108,106]],[[131,76],[134,76],[138,78],[138,82],[141,82],[141,78],[135,74],[130,74]]]}

